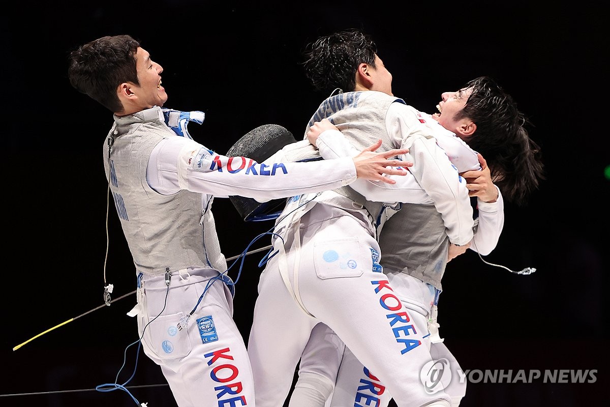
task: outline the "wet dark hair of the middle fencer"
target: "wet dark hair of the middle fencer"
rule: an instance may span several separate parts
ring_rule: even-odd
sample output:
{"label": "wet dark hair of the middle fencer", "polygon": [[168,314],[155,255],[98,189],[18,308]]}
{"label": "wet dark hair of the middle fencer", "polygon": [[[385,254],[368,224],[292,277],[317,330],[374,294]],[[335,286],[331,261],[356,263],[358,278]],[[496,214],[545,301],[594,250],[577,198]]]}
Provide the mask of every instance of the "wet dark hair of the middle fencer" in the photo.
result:
{"label": "wet dark hair of the middle fencer", "polygon": [[377,46],[370,36],[356,29],[318,38],[306,46],[303,63],[307,79],[320,92],[356,88],[356,71],[361,63],[375,68]]}

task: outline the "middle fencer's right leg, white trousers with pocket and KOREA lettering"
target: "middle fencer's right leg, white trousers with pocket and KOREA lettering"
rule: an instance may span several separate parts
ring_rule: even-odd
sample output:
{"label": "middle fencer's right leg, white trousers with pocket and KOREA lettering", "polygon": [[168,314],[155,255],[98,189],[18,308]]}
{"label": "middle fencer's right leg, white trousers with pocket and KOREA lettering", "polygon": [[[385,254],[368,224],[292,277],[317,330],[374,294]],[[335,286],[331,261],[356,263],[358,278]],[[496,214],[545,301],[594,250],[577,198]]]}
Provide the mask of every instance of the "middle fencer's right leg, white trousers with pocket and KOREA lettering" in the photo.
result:
{"label": "middle fencer's right leg, white trousers with pocket and KOREA lettering", "polygon": [[[337,333],[398,406],[440,400],[448,405],[444,392],[427,394],[423,386],[412,385],[431,360],[429,348],[412,321],[413,312],[378,267],[376,240],[351,217],[304,224],[310,226],[303,228],[298,286],[307,311]],[[365,403],[365,396],[356,402]]]}

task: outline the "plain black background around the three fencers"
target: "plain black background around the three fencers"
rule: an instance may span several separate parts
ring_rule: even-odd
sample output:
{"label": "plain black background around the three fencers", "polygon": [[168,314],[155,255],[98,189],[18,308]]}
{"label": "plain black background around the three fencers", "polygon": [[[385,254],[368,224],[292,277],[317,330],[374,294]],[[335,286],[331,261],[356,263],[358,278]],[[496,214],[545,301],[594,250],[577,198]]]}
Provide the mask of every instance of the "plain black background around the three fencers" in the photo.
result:
{"label": "plain black background around the three fencers", "polygon": [[[190,132],[224,153],[261,124],[302,134],[328,96],[307,83],[303,48],[346,28],[373,35],[393,93],[420,110],[434,112],[441,92],[469,79],[495,77],[533,123],[529,133],[544,154],[547,180],[527,206],[506,205],[500,242],[486,258],[537,272],[514,275],[472,251],[454,260],[443,278],[440,332],[463,369],[597,369],[597,381],[470,383],[461,406],[584,406],[607,398],[608,21],[601,2],[535,3],[5,5],[0,404],[135,405],[125,392],[95,391],[115,382],[124,360],[118,383],[134,372],[137,347],[125,348],[137,340],[126,316],[135,295],[107,307],[102,294],[104,272],[112,298],[135,290],[135,272],[112,200],[106,215],[102,143],[112,114],[71,88],[71,49],[103,35],[142,40],[165,70],[165,107],[206,112]],[[227,257],[271,227],[243,222],[223,198],[213,208]],[[236,287],[234,316],[246,340],[261,257],[248,256]],[[234,279],[238,267],[229,272]],[[149,407],[175,405],[142,351],[126,385],[144,386],[131,392]]]}

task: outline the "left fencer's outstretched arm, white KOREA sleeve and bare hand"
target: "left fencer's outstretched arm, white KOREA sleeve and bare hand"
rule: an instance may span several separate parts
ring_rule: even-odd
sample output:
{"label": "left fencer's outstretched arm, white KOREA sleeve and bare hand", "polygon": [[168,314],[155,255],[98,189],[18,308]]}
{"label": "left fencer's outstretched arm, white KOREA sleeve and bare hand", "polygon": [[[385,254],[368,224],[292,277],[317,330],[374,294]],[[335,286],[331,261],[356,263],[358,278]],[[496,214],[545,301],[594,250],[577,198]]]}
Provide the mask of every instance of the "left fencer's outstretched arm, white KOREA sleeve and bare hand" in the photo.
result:
{"label": "left fencer's outstretched arm, white KOREA sleeve and bare hand", "polygon": [[389,152],[374,146],[357,157],[314,162],[264,162],[227,157],[184,137],[160,143],[149,160],[147,179],[157,192],[169,195],[181,189],[217,196],[240,195],[265,201],[301,193],[336,189],[357,177],[379,179],[400,171],[388,160]]}

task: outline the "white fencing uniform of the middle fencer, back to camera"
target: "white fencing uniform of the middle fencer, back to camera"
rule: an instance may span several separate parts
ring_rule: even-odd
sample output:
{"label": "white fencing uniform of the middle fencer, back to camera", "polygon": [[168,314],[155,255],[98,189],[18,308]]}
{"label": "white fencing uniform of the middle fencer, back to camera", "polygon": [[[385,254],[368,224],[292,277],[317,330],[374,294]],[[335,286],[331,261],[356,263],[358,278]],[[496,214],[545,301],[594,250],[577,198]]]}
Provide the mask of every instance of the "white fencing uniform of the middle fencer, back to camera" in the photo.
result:
{"label": "white fencing uniform of the middle fencer, back to camera", "polygon": [[[357,147],[381,138],[385,148],[410,148],[404,159],[415,163],[410,169],[418,182],[431,185],[451,240],[465,244],[472,239],[464,180],[401,99],[375,91],[342,93],[326,99],[310,125],[323,117],[358,140]],[[375,217],[357,195],[340,189],[295,196],[276,221],[276,254],[260,276],[248,342],[259,407],[284,403],[312,331],[325,334],[320,322],[379,375],[399,406],[449,405],[442,391],[429,395],[408,385],[419,374],[408,369],[411,361],[429,359],[429,350],[411,311],[382,273]],[[321,354],[312,349],[312,355]],[[332,351],[329,355],[330,361]],[[332,387],[335,377],[336,370],[333,376],[314,373],[307,386]]]}

